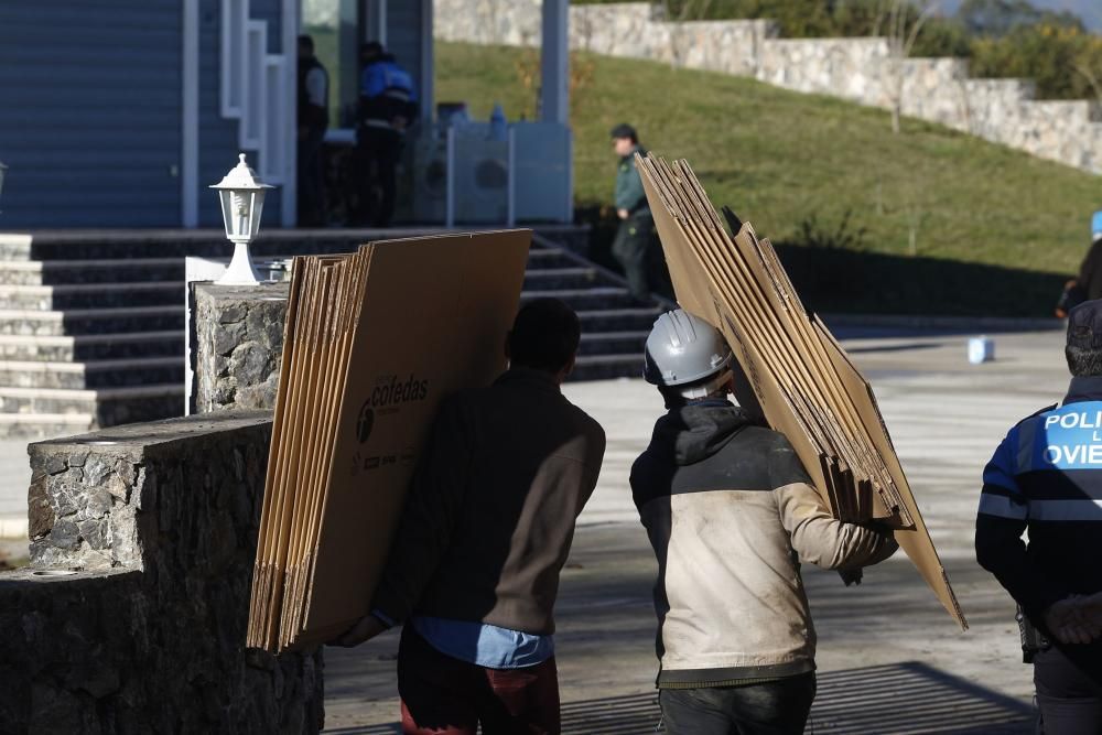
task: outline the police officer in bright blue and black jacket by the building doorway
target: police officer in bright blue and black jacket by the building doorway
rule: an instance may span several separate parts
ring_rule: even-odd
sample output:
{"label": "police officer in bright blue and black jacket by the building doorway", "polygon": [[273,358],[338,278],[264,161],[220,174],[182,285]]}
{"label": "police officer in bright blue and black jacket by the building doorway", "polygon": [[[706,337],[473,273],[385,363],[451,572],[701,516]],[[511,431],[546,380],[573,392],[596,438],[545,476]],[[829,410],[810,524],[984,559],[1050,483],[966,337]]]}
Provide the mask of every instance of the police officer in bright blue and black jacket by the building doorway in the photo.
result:
{"label": "police officer in bright blue and black jacket by the building doorway", "polygon": [[360,48],[356,153],[359,197],[353,223],[389,227],[395,215],[398,162],[406,129],[417,116],[413,77],[377,41]]}

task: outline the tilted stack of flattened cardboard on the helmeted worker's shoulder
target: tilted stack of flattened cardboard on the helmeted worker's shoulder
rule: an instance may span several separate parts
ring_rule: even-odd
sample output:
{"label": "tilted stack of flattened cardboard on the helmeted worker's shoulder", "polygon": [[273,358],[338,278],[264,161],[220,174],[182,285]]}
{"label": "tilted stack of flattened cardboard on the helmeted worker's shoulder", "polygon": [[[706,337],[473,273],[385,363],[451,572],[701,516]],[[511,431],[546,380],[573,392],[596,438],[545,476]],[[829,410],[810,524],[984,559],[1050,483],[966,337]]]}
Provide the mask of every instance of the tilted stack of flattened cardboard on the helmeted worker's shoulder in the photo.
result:
{"label": "tilted stack of flattened cardboard on the helmeted worker's shoulder", "polygon": [[765,419],[788,436],[834,517],[890,526],[966,627],[868,382],[803,309],[773,246],[730,209],[728,235],[687,162],[636,163],[678,302],[723,332]]}

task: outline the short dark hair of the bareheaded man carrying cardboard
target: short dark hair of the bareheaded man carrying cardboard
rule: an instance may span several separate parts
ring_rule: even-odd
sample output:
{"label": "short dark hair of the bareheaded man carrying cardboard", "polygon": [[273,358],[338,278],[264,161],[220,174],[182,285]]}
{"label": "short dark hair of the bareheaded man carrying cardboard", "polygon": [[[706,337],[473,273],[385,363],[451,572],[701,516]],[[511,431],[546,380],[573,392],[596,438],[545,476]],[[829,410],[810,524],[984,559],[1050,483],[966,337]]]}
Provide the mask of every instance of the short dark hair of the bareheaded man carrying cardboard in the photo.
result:
{"label": "short dark hair of the bareheaded man carrying cardboard", "polygon": [[509,359],[518,367],[559,372],[570,365],[582,341],[582,323],[558,299],[533,299],[517,313],[509,332]]}

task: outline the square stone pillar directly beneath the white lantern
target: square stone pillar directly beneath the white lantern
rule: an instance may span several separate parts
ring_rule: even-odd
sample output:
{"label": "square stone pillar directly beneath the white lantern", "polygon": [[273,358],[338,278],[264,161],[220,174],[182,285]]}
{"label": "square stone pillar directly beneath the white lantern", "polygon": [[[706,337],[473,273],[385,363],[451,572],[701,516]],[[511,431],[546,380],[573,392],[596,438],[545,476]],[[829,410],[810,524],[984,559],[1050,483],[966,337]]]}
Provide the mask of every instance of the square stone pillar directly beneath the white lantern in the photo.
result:
{"label": "square stone pillar directly beneath the white lantern", "polygon": [[289,284],[193,288],[195,411],[274,409]]}

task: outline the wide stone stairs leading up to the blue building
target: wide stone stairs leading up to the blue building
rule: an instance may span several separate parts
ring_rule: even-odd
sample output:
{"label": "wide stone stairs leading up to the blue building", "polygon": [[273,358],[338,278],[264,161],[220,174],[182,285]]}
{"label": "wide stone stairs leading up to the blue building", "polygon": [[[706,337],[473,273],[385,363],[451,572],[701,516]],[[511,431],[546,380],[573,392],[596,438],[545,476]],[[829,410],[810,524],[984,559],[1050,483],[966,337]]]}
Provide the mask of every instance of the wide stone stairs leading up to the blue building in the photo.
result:
{"label": "wide stone stairs leading up to the blue building", "polygon": [[[579,312],[574,379],[639,375],[644,342],[663,304],[637,302],[619,277],[558,245],[555,235],[577,237],[537,235],[525,298],[560,298]],[[379,234],[272,233],[255,255],[347,252],[369,239]],[[228,250],[213,231],[0,234],[0,437],[182,414],[183,258]]]}

